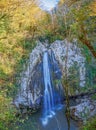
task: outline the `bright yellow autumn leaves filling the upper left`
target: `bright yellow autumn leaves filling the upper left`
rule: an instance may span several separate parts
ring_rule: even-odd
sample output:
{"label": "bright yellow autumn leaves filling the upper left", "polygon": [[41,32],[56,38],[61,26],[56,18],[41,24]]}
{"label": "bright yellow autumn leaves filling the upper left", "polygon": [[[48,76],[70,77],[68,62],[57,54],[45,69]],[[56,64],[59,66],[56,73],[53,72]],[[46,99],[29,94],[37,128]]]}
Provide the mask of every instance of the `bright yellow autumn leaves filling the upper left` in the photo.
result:
{"label": "bright yellow autumn leaves filling the upper left", "polygon": [[18,59],[23,55],[23,48],[18,42],[32,33],[34,26],[38,26],[41,15],[43,12],[35,1],[0,0],[0,70],[4,73],[13,72],[14,55],[17,54]]}

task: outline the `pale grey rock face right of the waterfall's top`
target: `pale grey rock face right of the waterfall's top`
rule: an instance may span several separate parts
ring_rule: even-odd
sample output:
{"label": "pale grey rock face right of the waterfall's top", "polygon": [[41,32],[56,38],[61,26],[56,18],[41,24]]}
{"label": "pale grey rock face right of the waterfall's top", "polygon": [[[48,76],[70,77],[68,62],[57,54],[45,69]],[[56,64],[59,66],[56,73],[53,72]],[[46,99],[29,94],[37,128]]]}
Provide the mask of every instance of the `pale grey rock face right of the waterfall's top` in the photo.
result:
{"label": "pale grey rock face right of the waterfall's top", "polygon": [[79,75],[80,75],[80,86],[84,87],[85,71],[86,71],[85,58],[81,53],[81,49],[77,46],[76,40],[74,40],[73,43],[70,43],[66,39],[63,41],[56,40],[51,44],[50,48],[54,52],[56,60],[58,61],[59,66],[61,67],[62,73],[65,72],[65,64],[66,64],[65,59],[67,53],[68,53],[68,61],[67,61],[68,70],[72,65],[74,65],[75,62],[78,64]]}

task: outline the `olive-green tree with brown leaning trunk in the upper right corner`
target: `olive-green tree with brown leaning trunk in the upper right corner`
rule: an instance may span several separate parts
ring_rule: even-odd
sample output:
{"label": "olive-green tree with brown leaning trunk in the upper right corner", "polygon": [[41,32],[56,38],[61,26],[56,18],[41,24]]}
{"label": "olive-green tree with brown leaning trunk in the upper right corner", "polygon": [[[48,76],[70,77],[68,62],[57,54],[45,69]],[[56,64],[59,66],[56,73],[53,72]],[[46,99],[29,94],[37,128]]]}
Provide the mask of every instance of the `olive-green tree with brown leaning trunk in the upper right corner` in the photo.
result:
{"label": "olive-green tree with brown leaning trunk in the upper right corner", "polygon": [[66,7],[64,8],[68,9],[63,19],[66,21],[66,25],[64,26],[66,26],[67,37],[69,39],[70,37],[77,38],[84,46],[88,47],[92,55],[96,58],[96,45],[92,43],[96,36],[96,1],[65,0],[62,6],[65,5]]}

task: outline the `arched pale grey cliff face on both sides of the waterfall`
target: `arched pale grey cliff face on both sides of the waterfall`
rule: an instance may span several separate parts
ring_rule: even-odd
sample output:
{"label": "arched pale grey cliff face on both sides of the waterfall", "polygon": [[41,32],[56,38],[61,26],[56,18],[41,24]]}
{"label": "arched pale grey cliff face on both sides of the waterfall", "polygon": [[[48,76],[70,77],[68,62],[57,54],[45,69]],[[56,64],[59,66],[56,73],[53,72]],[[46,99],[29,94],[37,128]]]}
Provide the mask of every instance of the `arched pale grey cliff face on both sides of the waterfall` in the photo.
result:
{"label": "arched pale grey cliff face on both sides of the waterfall", "polygon": [[[80,48],[75,43],[69,43],[67,40],[55,41],[50,46],[47,43],[38,42],[32,50],[29,62],[25,71],[21,74],[20,91],[14,100],[16,107],[20,105],[30,108],[38,108],[43,96],[43,75],[42,75],[42,57],[45,51],[50,55],[53,79],[55,87],[60,87],[60,79],[65,71],[65,58],[68,54],[68,69],[76,62],[79,67],[80,86],[85,85],[85,58],[81,54]],[[59,85],[58,85],[59,84]]]}

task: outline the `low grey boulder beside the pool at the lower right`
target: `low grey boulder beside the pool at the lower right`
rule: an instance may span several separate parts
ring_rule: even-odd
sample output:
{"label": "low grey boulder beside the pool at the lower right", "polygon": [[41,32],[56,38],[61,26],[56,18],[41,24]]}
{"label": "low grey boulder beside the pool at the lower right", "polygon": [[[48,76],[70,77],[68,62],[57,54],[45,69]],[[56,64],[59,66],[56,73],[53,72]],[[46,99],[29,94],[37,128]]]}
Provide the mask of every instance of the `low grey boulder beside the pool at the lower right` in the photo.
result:
{"label": "low grey boulder beside the pool at the lower right", "polygon": [[96,115],[96,101],[90,98],[79,99],[79,104],[70,107],[71,118],[76,121],[85,122]]}

